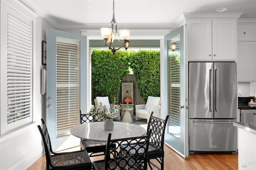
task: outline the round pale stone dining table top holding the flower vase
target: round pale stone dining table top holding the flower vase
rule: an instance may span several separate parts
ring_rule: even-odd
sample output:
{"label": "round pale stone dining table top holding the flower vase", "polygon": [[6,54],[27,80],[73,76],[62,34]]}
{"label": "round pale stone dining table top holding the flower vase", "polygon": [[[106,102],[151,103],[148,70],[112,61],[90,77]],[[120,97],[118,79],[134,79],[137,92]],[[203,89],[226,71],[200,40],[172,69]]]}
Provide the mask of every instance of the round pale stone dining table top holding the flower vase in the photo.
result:
{"label": "round pale stone dining table top holding the flower vase", "polygon": [[98,121],[76,125],[70,129],[70,133],[81,139],[107,141],[109,133],[112,134],[111,139],[120,139],[145,135],[146,129],[140,125],[114,121],[114,129],[105,131],[104,121]]}

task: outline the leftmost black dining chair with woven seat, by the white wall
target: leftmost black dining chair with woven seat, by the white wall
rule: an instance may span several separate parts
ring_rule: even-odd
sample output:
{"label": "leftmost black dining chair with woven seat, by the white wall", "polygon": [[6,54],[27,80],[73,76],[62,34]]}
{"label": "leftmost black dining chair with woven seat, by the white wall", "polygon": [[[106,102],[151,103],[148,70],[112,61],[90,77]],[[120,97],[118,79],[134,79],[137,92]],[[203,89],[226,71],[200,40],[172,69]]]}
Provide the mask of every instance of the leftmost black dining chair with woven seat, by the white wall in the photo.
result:
{"label": "leftmost black dining chair with woven seat, by the white wall", "polygon": [[48,134],[47,127],[42,120],[43,126],[38,125],[38,129],[44,142],[44,150],[46,157],[46,170],[91,170],[92,162],[86,150],[78,150],[73,152],[52,151],[52,145]]}

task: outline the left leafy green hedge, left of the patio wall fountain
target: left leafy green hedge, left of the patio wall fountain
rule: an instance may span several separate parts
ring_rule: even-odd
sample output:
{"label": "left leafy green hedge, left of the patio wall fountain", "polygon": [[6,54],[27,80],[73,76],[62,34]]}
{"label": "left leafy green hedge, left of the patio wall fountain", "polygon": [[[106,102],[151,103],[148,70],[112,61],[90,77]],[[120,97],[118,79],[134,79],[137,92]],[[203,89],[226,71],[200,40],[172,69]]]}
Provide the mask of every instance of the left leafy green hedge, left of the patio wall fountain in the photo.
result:
{"label": "left leafy green hedge, left of the patio wall fountain", "polygon": [[129,74],[124,52],[117,51],[113,56],[110,50],[94,49],[91,60],[92,100],[97,96],[108,96],[110,103],[118,101],[121,80]]}

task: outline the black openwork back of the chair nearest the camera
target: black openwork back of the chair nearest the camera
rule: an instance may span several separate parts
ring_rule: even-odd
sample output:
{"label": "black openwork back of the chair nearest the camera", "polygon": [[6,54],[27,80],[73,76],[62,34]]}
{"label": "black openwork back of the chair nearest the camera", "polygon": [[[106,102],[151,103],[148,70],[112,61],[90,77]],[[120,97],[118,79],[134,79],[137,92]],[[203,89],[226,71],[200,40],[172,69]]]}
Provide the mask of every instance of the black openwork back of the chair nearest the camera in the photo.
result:
{"label": "black openwork back of the chair nearest the camera", "polygon": [[109,133],[105,170],[146,170],[150,133],[151,130],[148,135],[122,139],[111,139],[111,133]]}

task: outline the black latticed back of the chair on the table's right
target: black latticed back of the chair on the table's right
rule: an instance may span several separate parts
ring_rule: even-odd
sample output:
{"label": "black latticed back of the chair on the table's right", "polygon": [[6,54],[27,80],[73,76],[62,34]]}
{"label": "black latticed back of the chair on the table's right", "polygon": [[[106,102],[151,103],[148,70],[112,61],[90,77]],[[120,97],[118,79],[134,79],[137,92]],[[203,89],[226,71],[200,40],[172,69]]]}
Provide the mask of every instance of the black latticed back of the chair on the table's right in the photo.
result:
{"label": "black latticed back of the chair on the table's right", "polygon": [[149,143],[157,147],[158,150],[164,150],[164,132],[168,117],[169,115],[166,116],[165,120],[160,119],[159,117],[154,117],[152,111],[148,121],[147,133],[150,129],[152,130]]}

